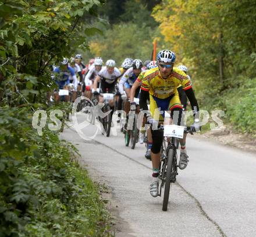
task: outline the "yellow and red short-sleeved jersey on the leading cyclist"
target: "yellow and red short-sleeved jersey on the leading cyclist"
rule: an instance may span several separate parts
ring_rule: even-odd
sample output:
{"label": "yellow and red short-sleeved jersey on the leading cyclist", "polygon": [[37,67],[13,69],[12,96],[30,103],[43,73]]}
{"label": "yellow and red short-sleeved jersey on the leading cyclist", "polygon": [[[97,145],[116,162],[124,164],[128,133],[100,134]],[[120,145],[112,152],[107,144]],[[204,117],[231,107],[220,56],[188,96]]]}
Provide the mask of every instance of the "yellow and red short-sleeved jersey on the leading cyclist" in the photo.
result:
{"label": "yellow and red short-sleeved jersey on the leading cyclist", "polygon": [[145,71],[141,90],[150,93],[151,96],[159,99],[166,99],[177,93],[177,87],[182,85],[183,90],[191,88],[191,81],[187,75],[179,68],[173,67],[168,78],[163,79],[158,68]]}

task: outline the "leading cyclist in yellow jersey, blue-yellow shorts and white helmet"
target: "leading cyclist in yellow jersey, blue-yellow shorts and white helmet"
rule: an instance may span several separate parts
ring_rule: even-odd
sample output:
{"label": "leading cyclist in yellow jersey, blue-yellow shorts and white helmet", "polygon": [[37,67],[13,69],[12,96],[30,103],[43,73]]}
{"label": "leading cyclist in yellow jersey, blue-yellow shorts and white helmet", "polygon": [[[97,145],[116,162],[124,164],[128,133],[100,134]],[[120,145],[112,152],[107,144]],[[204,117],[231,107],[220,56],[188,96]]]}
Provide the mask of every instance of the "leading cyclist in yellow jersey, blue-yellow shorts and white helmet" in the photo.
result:
{"label": "leading cyclist in yellow jersey, blue-yellow shorts and white helmet", "polygon": [[[191,126],[191,130],[198,131],[200,129],[198,103],[195,99],[191,82],[186,74],[182,70],[173,67],[175,58],[175,53],[170,50],[162,50],[158,53],[158,68],[148,70],[144,74],[141,84],[140,108],[147,111],[147,97],[148,94],[150,94],[150,112],[152,118],[148,118],[148,121],[163,123],[164,111],[170,111],[170,118],[173,118],[174,112],[177,111],[179,114],[177,124],[180,125],[182,104],[180,103],[177,87],[182,85],[194,112],[194,124]],[[160,114],[160,111],[163,111],[163,114]],[[157,112],[157,114],[154,114],[155,112]],[[163,132],[160,130],[151,130],[151,133],[153,141],[151,148],[153,174],[152,183],[150,185],[150,194],[156,197],[158,196],[158,166],[160,162]],[[180,139],[180,144],[179,168],[185,169],[187,167],[187,162],[189,161],[189,156],[187,156],[186,151],[186,136]]]}

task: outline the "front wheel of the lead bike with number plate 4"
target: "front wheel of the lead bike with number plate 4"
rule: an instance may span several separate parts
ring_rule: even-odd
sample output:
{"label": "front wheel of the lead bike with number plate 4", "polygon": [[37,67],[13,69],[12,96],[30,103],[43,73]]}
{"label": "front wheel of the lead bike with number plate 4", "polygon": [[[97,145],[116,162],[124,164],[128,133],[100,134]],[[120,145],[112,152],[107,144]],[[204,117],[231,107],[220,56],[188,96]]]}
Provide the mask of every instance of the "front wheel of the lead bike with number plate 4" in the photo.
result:
{"label": "front wheel of the lead bike with number plate 4", "polygon": [[165,192],[163,194],[163,207],[162,210],[166,211],[169,201],[170,194],[170,182],[173,175],[173,161],[174,161],[175,151],[173,148],[169,148],[167,151],[167,170],[166,170],[166,179],[165,179]]}

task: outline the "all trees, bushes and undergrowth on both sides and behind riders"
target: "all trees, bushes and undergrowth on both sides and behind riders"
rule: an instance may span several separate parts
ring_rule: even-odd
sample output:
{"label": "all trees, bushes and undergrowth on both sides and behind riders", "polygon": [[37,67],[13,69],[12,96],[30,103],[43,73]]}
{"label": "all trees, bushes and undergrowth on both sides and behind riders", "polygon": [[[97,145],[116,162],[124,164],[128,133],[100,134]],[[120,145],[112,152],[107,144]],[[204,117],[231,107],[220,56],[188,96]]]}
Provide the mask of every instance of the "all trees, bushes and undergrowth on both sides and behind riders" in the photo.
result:
{"label": "all trees, bushes and undergrowth on both sides and behind riders", "polygon": [[51,110],[49,65],[77,52],[144,61],[157,41],[189,68],[200,108],[224,110],[255,136],[255,9],[248,0],[0,0],[0,236],[111,235],[97,188],[70,161],[74,147],[31,127],[34,110]]}

